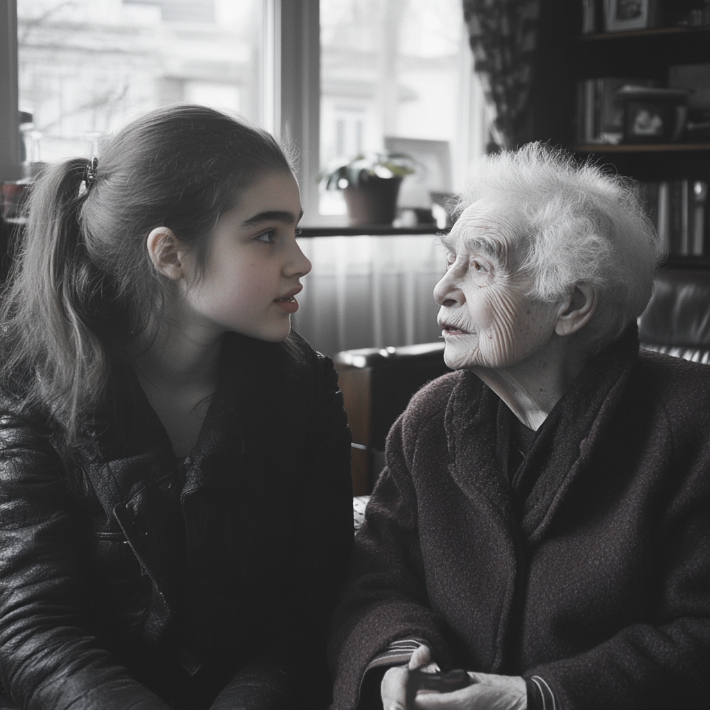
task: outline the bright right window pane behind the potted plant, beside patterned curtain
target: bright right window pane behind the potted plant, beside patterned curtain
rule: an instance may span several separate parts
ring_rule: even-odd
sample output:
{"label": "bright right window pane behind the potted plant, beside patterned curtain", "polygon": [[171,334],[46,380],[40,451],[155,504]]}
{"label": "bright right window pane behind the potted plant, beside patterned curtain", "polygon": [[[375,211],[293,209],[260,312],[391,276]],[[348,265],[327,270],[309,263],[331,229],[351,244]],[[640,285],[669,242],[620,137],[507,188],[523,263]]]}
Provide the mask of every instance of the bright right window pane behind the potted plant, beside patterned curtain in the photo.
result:
{"label": "bright right window pane behind the potted plant, beside patterned curtain", "polygon": [[[391,150],[424,167],[405,180],[400,206],[430,207],[452,190],[452,146],[469,81],[461,0],[321,0],[321,163]],[[344,214],[323,192],[323,214]]]}

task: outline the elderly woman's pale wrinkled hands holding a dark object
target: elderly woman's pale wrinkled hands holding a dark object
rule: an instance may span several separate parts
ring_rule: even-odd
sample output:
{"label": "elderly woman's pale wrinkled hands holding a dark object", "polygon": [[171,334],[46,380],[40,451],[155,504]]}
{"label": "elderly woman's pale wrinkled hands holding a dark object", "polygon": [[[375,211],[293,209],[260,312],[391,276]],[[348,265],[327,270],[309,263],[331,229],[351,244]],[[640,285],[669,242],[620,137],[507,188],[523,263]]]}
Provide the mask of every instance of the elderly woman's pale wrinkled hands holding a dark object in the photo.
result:
{"label": "elderly woman's pale wrinkled hands holding a dark object", "polygon": [[[412,654],[407,668],[396,667],[386,672],[381,686],[384,710],[525,710],[527,708],[528,690],[522,678],[470,671],[469,687],[449,693],[420,690],[414,707],[407,708],[409,669],[420,668],[427,672],[439,670],[435,663],[430,662],[431,657],[429,648],[420,646]],[[427,662],[430,663],[426,665]]]}

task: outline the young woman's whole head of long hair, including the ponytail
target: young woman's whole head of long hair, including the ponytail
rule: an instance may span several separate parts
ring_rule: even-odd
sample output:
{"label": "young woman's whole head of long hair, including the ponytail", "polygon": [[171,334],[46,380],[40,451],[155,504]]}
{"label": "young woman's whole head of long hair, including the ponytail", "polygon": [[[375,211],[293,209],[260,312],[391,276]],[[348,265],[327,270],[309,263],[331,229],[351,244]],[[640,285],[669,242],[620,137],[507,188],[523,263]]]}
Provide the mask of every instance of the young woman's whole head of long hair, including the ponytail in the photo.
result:
{"label": "young woman's whole head of long hair, including the ponytail", "polygon": [[151,229],[171,229],[204,266],[209,234],[240,190],[290,170],[266,131],[200,106],[136,119],[98,165],[50,168],[2,297],[0,387],[74,439],[104,403],[111,367],[150,339],[160,316]]}

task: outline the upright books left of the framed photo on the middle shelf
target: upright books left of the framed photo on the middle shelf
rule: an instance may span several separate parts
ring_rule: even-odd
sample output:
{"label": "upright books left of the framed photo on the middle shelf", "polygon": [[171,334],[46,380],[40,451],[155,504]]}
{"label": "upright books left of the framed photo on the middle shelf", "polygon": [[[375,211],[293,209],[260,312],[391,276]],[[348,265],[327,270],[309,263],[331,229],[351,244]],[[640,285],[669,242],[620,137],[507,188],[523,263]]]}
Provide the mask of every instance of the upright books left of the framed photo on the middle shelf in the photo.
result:
{"label": "upright books left of the framed photo on the middle shelf", "polygon": [[624,105],[617,94],[627,84],[652,87],[650,79],[601,77],[577,82],[577,142],[616,145],[623,138]]}

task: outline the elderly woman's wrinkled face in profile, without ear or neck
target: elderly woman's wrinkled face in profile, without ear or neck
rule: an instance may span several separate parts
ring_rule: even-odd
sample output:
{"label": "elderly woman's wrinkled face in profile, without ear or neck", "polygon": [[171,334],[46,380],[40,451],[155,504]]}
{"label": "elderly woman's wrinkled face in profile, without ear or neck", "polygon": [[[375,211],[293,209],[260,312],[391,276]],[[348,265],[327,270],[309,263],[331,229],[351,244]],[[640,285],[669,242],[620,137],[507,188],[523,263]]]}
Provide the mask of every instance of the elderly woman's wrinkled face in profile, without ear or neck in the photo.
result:
{"label": "elderly woman's wrinkled face in profile, without ear or neck", "polygon": [[434,297],[449,367],[506,368],[550,342],[557,305],[526,295],[531,281],[519,271],[525,258],[520,232],[513,208],[479,200],[444,241],[449,266]]}

